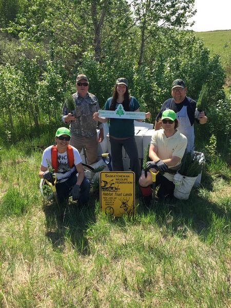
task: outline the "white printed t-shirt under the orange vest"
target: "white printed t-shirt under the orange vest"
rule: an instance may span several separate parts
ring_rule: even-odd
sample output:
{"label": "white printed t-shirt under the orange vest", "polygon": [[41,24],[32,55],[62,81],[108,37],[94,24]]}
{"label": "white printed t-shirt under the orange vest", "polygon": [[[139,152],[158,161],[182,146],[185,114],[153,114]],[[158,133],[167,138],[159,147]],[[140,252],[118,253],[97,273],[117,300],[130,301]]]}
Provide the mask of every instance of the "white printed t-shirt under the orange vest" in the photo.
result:
{"label": "white printed t-shirt under the orange vest", "polygon": [[[74,154],[74,166],[72,168],[70,168],[68,165],[67,151],[65,151],[64,153],[57,152],[58,168],[55,174],[57,177],[57,181],[59,181],[60,183],[66,181],[71,176],[71,174],[76,170],[75,165],[82,163],[79,151],[73,146],[71,147]],[[47,147],[43,152],[41,165],[46,168],[51,166],[51,148],[52,145]]]}

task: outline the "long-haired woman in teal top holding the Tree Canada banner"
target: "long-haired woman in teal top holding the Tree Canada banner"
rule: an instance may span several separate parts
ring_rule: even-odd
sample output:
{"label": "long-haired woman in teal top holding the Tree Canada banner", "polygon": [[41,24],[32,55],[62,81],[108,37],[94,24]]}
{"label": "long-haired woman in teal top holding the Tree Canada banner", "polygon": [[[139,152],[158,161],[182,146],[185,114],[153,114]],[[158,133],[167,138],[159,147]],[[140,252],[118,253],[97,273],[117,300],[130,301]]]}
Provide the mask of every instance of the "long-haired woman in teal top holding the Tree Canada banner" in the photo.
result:
{"label": "long-haired woman in teal top holding the Tree Canada banner", "polygon": [[[137,99],[130,96],[128,92],[128,81],[126,78],[119,78],[117,80],[112,97],[107,99],[104,110],[115,110],[119,104],[123,105],[125,111],[140,111],[140,104]],[[150,115],[150,112],[147,112],[145,118],[149,119]],[[99,112],[95,112],[93,117],[100,122],[109,121],[109,140],[111,144],[113,170],[124,170],[122,157],[122,148],[124,147],[130,158],[130,168],[136,174],[136,179],[138,181],[141,170],[137,144],[134,138],[134,120],[100,118]]]}

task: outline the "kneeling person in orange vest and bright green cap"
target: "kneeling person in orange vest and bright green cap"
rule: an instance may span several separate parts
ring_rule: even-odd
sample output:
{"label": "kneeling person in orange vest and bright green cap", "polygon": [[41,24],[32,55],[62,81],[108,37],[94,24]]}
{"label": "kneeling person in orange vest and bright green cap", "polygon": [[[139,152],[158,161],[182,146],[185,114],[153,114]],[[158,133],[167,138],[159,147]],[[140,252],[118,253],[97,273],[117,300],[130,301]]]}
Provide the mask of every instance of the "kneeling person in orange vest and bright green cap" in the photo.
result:
{"label": "kneeling person in orange vest and bright green cap", "polygon": [[[73,200],[86,204],[89,200],[90,182],[85,178],[79,151],[69,145],[70,136],[68,128],[57,129],[56,145],[44,150],[38,176],[52,183],[55,172],[57,178],[55,188],[60,203],[65,202],[71,192]],[[50,167],[53,168],[53,172],[48,170]]]}

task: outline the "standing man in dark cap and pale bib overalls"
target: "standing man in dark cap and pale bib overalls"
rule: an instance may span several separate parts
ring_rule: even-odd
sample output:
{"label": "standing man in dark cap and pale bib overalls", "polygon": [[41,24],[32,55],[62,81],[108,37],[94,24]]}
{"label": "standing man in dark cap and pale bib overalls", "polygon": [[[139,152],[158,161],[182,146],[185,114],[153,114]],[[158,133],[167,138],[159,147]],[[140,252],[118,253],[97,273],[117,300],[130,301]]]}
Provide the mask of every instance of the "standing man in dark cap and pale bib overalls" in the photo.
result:
{"label": "standing man in dark cap and pale bib overalls", "polygon": [[194,151],[194,122],[195,119],[200,124],[207,122],[207,117],[204,111],[199,113],[199,117],[195,117],[196,102],[189,97],[186,97],[187,87],[182,79],[176,79],[172,82],[171,95],[172,98],[165,101],[157,114],[155,122],[155,130],[161,128],[161,117],[164,110],[171,109],[177,113],[179,122],[178,130],[187,137],[187,151]]}

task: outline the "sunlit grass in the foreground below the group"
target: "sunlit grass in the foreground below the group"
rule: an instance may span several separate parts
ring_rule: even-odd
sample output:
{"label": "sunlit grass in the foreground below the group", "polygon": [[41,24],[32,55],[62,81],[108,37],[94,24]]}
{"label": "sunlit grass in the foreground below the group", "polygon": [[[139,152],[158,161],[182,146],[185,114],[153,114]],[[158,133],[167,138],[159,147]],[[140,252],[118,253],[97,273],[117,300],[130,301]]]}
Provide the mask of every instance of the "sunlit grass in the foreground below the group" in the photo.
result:
{"label": "sunlit grass in the foreground below the group", "polygon": [[92,190],[62,220],[38,190],[42,150],[0,155],[1,307],[228,307],[227,167],[207,165],[187,201],[146,208],[137,193],[136,216],[113,219]]}

